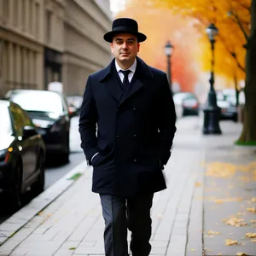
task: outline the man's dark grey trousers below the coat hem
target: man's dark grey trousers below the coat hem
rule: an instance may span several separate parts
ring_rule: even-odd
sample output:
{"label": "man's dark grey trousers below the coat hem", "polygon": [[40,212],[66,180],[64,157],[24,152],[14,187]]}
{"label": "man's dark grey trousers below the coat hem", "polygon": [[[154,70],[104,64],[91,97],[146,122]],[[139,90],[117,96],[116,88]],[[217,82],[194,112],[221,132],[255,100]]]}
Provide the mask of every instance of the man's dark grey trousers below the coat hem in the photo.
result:
{"label": "man's dark grey trousers below the coat hem", "polygon": [[136,195],[129,199],[100,195],[105,219],[106,256],[127,256],[127,228],[131,231],[133,256],[148,256],[151,251],[150,208],[154,194]]}

